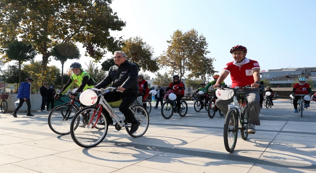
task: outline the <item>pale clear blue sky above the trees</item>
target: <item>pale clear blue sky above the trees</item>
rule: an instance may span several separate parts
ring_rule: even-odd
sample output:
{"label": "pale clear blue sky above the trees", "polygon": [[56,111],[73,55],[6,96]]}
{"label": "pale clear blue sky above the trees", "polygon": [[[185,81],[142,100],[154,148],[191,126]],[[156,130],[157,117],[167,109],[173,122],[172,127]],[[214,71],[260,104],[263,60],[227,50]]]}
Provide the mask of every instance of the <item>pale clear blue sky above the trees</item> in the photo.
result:
{"label": "pale clear blue sky above the trees", "polygon": [[[206,38],[219,74],[233,60],[229,50],[237,44],[247,47],[247,57],[261,70],[316,66],[316,0],[114,0],[111,7],[126,21],[113,35],[139,36],[154,47],[155,56],[167,49],[175,30],[194,28]],[[80,62],[88,62],[83,51]],[[225,82],[230,84],[230,78]]]}

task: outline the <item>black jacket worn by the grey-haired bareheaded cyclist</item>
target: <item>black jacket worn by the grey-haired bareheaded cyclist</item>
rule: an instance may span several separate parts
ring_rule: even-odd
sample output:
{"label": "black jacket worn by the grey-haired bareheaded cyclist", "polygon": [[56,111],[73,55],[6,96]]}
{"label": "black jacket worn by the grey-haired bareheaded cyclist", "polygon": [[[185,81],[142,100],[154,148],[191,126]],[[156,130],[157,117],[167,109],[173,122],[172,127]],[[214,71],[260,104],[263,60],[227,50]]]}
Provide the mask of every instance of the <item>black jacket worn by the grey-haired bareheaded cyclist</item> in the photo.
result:
{"label": "black jacket worn by the grey-haired bareheaded cyclist", "polygon": [[110,67],[108,75],[96,86],[96,88],[103,88],[113,82],[112,87],[123,87],[124,92],[138,93],[139,86],[137,82],[138,68],[135,64],[125,60],[124,63],[118,66],[115,64]]}

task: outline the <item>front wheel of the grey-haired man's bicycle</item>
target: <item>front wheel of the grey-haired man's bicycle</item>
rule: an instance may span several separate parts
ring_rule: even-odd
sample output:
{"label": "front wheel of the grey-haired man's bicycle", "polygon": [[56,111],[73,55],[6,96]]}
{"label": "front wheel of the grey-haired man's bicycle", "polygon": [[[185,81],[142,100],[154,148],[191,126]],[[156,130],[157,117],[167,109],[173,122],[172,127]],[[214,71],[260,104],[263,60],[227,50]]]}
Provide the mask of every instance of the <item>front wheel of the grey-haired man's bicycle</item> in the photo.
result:
{"label": "front wheel of the grey-haired man's bicycle", "polygon": [[[98,115],[98,108],[93,106],[88,106],[80,109],[74,116],[70,124],[70,134],[74,142],[83,148],[94,147],[103,141],[108,132],[108,123],[105,115],[101,112],[101,116],[104,120],[104,125],[98,124],[96,119],[92,120],[92,123],[85,128],[78,127],[74,128],[75,120],[80,117],[84,124],[88,124],[91,121],[92,115]],[[88,115],[88,116],[87,116]],[[98,128],[92,128],[96,124]]]}

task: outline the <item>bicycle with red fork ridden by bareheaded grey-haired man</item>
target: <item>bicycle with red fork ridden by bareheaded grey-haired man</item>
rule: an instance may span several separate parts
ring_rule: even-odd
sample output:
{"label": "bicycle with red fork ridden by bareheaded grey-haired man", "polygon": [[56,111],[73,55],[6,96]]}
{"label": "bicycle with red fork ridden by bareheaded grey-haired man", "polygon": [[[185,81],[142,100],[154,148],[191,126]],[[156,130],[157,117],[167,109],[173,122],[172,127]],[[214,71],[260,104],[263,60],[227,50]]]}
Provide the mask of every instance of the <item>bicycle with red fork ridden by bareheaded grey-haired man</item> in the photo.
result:
{"label": "bicycle with red fork ridden by bareheaded grey-haired man", "polygon": [[[115,87],[107,87],[105,89],[113,89],[114,91],[116,91]],[[97,90],[103,93],[104,88],[93,88],[93,90]],[[92,89],[83,91],[80,95],[80,98],[83,95],[82,97],[89,97],[91,99],[94,99],[92,100],[93,102],[90,105],[92,105],[94,102],[96,102],[97,105],[84,107],[75,114],[70,124],[70,134],[77,145],[88,148],[96,146],[103,141],[108,132],[108,123],[105,114],[102,112],[103,109],[105,109],[105,111],[108,111],[111,118],[116,121],[115,125],[110,125],[115,126],[116,130],[121,130],[125,128],[127,133],[132,137],[140,137],[146,133],[149,126],[149,116],[143,106],[133,105],[129,107],[129,109],[134,114],[136,120],[140,122],[138,130],[131,134],[129,133],[131,124],[127,123],[124,116],[118,116],[118,114],[113,110],[113,108],[109,105],[109,103],[105,100],[103,94],[101,93],[99,94],[99,101],[97,101],[97,95],[92,91]],[[83,103],[83,100],[81,100],[81,102]],[[77,120],[82,120],[84,128],[76,128]]]}

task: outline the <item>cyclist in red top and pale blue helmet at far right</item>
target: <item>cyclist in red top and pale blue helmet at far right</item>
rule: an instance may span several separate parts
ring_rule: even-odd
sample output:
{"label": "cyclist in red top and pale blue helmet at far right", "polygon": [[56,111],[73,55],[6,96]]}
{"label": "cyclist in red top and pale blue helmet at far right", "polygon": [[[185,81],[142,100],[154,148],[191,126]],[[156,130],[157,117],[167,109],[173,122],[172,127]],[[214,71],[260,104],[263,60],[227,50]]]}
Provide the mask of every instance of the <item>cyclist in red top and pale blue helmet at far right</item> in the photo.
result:
{"label": "cyclist in red top and pale blue helmet at far right", "polygon": [[[293,91],[292,91],[292,96],[294,97],[293,99],[293,106],[294,106],[294,112],[298,113],[297,110],[297,101],[300,99],[299,94],[310,94],[310,96],[312,96],[312,91],[311,91],[311,87],[309,84],[306,83],[306,78],[299,78],[298,79],[299,83],[294,84],[293,86]],[[306,101],[305,100],[305,107],[309,107],[309,103],[310,101]]]}

